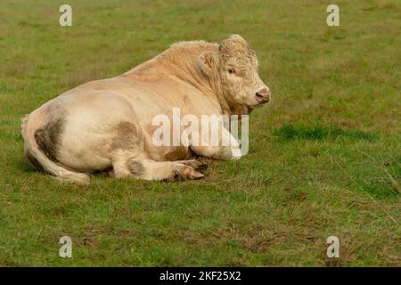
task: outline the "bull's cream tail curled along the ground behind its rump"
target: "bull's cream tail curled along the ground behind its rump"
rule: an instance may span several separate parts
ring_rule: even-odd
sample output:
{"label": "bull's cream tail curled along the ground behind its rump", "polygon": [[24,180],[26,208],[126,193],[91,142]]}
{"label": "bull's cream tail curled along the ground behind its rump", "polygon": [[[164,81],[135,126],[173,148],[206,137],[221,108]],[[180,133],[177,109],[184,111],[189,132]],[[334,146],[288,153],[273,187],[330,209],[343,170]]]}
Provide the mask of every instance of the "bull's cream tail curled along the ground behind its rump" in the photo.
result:
{"label": "bull's cream tail curled along the ground behind its rump", "polygon": [[49,159],[43,151],[39,149],[35,139],[37,129],[41,127],[44,118],[41,118],[40,111],[35,111],[29,116],[22,118],[22,136],[24,137],[25,155],[28,157],[29,162],[39,169],[73,183],[89,183],[89,175],[85,173],[77,173],[70,171],[64,167],[53,162]]}

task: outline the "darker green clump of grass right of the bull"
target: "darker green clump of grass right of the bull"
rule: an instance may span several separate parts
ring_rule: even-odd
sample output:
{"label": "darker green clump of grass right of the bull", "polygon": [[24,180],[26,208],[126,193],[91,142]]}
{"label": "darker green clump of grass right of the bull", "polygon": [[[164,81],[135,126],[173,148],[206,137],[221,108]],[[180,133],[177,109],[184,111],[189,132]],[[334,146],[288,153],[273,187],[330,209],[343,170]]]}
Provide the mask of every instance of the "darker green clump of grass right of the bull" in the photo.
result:
{"label": "darker green clump of grass right of the bull", "polygon": [[308,141],[332,141],[338,138],[348,140],[373,141],[375,135],[361,130],[348,130],[339,126],[305,126],[286,124],[274,131],[281,140],[308,140]]}

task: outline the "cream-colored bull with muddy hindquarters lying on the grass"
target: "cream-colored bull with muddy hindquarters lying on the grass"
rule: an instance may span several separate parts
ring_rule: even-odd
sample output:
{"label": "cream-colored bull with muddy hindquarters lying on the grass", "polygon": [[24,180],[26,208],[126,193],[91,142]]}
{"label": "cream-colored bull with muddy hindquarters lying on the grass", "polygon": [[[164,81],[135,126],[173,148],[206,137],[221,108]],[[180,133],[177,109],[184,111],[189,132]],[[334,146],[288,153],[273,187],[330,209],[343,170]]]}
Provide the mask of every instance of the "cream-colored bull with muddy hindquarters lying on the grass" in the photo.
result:
{"label": "cream-colored bull with muddy hindquarters lying on the grass", "polygon": [[[119,77],[79,85],[23,119],[25,153],[58,178],[88,183],[112,168],[115,177],[197,179],[193,155],[238,159],[228,146],[155,146],[152,119],[160,114],[246,115],[270,99],[258,60],[240,36],[220,44],[181,42]],[[223,129],[224,135],[231,135]]]}

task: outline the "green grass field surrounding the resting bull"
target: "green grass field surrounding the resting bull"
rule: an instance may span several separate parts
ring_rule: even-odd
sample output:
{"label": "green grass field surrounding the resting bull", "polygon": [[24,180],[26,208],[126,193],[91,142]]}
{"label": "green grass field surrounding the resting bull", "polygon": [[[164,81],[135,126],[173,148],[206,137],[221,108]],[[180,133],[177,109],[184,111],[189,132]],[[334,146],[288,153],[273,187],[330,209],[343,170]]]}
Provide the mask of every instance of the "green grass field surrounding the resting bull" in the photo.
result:
{"label": "green grass field surrounding the resting bull", "polygon": [[[399,1],[336,1],[340,27],[318,0],[68,3],[61,28],[63,1],[0,2],[0,265],[401,265]],[[78,186],[24,158],[20,118],[44,102],[234,33],[273,92],[243,159],[200,181]]]}

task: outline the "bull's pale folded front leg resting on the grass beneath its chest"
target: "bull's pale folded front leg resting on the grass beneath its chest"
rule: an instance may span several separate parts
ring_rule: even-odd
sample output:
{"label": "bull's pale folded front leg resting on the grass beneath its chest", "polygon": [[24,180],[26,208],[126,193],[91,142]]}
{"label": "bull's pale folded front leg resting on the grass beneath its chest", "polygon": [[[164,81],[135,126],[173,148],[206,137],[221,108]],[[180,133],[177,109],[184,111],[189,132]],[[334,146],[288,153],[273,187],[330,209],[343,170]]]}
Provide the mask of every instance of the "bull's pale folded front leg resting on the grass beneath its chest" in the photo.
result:
{"label": "bull's pale folded front leg resting on the grass beneath its chest", "polygon": [[[199,137],[201,138],[201,135]],[[226,128],[218,132],[218,143],[214,143],[209,137],[203,137],[200,142],[191,143],[192,151],[199,156],[222,160],[241,159],[240,144]]]}

